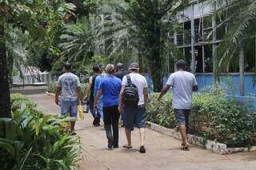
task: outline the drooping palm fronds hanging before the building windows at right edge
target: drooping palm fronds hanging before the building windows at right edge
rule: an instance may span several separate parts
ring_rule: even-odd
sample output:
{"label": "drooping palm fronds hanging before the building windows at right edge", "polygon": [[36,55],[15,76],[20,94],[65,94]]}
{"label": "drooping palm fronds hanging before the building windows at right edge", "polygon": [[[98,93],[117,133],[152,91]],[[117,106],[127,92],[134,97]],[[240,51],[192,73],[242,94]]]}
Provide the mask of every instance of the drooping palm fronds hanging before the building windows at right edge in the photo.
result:
{"label": "drooping palm fronds hanging before the building windows at right edge", "polygon": [[[245,49],[256,44],[256,1],[211,0],[210,2],[216,7],[213,17],[220,21],[213,32],[220,27],[226,27],[226,35],[214,53],[216,63],[214,77],[218,77],[220,72],[229,72],[230,68],[239,66],[240,93],[243,95]],[[248,57],[247,59],[251,60]]]}

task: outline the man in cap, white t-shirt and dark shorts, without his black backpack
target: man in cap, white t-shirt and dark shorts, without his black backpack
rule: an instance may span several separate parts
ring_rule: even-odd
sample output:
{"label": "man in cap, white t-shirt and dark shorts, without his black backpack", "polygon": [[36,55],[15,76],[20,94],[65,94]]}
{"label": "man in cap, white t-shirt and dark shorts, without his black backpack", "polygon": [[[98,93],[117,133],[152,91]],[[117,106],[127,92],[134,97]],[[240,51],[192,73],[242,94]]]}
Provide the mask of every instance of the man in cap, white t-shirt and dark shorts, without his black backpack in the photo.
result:
{"label": "man in cap, white t-shirt and dark shorts, without his black backpack", "polygon": [[134,130],[134,127],[139,128],[139,134],[140,134],[140,148],[139,152],[145,153],[145,126],[146,126],[146,107],[145,104],[148,99],[148,93],[147,93],[147,83],[146,78],[143,77],[141,74],[138,73],[138,64],[132,63],[130,64],[130,74],[126,75],[122,78],[122,89],[119,96],[119,105],[118,110],[119,113],[122,112],[122,94],[124,90],[126,89],[126,85],[128,85],[128,79],[130,77],[131,83],[136,85],[138,88],[138,105],[132,107],[124,105],[124,126],[126,129],[126,138],[127,138],[127,144],[125,144],[124,148],[132,148],[131,144],[131,131]]}

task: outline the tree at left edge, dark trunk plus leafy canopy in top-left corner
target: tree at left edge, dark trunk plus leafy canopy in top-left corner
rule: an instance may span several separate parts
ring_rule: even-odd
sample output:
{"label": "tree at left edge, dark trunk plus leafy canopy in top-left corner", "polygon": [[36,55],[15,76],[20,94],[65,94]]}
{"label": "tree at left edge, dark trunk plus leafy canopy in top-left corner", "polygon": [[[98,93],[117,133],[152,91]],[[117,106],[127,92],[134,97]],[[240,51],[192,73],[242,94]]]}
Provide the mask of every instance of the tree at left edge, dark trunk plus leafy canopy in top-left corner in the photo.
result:
{"label": "tree at left edge, dark trunk plus leafy canopy in top-left corner", "polygon": [[6,63],[6,27],[28,31],[34,40],[46,35],[46,20],[53,6],[62,0],[0,0],[0,117],[11,117],[10,88]]}

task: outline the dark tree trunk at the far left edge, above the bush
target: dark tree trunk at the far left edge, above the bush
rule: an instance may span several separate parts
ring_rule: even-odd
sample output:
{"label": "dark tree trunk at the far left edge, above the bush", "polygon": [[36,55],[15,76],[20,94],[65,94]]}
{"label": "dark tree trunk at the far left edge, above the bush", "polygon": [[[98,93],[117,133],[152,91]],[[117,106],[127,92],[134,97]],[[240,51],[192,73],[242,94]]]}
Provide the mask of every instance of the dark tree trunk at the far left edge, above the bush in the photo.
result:
{"label": "dark tree trunk at the far left edge, above the bush", "polygon": [[6,43],[4,26],[0,26],[0,117],[11,117],[10,89],[6,63]]}

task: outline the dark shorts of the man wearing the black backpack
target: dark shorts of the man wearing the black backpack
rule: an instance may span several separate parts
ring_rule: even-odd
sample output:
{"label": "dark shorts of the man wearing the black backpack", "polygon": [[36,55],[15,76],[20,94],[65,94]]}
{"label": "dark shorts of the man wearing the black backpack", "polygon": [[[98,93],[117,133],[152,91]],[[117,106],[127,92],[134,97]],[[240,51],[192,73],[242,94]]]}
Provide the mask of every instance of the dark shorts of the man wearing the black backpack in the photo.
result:
{"label": "dark shorts of the man wearing the black backpack", "polygon": [[146,126],[146,108],[145,105],[138,105],[136,108],[124,106],[123,123],[125,128],[131,131],[136,128],[145,128]]}

